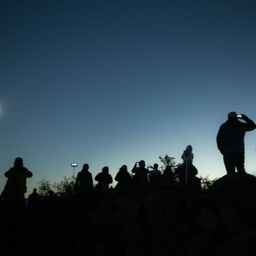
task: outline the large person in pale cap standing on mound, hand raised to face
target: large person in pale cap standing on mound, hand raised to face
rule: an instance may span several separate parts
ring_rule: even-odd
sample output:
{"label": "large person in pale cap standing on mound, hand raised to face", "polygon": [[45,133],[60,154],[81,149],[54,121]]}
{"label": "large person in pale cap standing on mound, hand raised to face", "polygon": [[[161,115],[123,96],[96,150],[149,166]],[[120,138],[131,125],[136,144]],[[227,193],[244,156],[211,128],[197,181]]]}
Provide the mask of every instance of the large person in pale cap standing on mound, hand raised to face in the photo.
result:
{"label": "large person in pale cap standing on mound, hand raised to face", "polygon": [[[246,174],[244,168],[244,136],[256,128],[255,123],[246,115],[230,112],[228,120],[220,126],[217,146],[223,155],[227,175],[234,176],[236,168],[240,174]],[[240,122],[239,119],[245,122]]]}

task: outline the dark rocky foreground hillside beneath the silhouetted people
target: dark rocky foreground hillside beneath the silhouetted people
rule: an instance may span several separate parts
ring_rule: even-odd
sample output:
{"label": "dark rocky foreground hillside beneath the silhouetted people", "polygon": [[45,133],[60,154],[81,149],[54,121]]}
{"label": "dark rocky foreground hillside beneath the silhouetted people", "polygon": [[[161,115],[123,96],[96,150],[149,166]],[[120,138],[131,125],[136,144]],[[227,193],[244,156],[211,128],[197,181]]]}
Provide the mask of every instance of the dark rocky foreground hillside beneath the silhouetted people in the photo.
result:
{"label": "dark rocky foreground hillside beneath the silhouetted people", "polygon": [[256,178],[186,187],[131,188],[48,198],[2,209],[0,255],[256,255]]}

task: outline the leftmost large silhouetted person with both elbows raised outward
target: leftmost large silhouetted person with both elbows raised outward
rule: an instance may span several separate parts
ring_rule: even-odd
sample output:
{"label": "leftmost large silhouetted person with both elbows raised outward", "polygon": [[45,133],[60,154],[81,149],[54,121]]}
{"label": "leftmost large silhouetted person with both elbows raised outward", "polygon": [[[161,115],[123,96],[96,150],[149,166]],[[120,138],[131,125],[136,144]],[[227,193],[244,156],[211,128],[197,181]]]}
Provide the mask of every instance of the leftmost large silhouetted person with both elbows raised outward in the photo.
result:
{"label": "leftmost large silhouetted person with both elbows raised outward", "polygon": [[8,202],[12,208],[20,209],[25,204],[24,194],[27,192],[26,179],[32,177],[32,173],[23,166],[23,159],[18,157],[14,166],[6,173],[8,178],[5,193],[8,195]]}

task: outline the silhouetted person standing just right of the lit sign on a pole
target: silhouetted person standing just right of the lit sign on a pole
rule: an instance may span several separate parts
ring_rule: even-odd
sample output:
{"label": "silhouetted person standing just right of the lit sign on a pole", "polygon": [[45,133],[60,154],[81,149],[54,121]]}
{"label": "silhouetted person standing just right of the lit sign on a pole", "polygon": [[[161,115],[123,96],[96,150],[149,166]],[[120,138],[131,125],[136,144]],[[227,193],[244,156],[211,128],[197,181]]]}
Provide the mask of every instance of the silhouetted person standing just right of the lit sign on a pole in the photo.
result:
{"label": "silhouetted person standing just right of the lit sign on a pole", "polygon": [[89,172],[89,164],[85,163],[77,174],[74,190],[80,195],[86,195],[93,190],[93,177]]}

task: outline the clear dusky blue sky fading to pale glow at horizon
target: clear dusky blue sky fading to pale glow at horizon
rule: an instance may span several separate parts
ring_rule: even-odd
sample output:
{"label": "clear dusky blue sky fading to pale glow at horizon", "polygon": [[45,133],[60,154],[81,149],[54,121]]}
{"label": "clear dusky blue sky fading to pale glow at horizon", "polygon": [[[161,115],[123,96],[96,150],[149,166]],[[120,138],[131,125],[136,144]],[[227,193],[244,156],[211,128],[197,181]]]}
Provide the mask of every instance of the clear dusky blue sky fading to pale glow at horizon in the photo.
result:
{"label": "clear dusky blue sky fading to pale glow at horizon", "polygon": [[[254,0],[0,0],[0,190],[16,157],[59,181],[84,163],[181,163],[226,174],[216,136],[227,114],[256,121]],[[245,168],[256,172],[256,131]]]}

